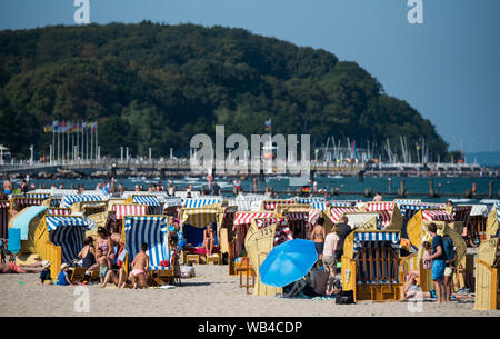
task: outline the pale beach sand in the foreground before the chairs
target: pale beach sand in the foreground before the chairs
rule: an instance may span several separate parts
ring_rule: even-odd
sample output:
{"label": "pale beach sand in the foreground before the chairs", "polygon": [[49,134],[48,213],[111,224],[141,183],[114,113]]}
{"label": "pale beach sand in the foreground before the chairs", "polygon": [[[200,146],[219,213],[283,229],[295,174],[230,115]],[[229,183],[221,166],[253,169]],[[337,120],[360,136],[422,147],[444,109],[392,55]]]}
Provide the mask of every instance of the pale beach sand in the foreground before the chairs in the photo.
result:
{"label": "pale beach sand in the foreground before the chairs", "polygon": [[[174,289],[117,290],[87,286],[89,312],[77,312],[81,287],[39,286],[38,275],[0,275],[0,313],[4,316],[197,316],[197,317],[344,317],[344,316],[494,316],[500,311],[477,311],[473,303],[422,302],[411,312],[409,302],[358,302],[282,299],[247,296],[239,278],[228,276],[227,266],[194,266],[198,278],[183,279]],[[23,283],[21,283],[23,282]],[[77,308],[78,309],[78,308]]]}

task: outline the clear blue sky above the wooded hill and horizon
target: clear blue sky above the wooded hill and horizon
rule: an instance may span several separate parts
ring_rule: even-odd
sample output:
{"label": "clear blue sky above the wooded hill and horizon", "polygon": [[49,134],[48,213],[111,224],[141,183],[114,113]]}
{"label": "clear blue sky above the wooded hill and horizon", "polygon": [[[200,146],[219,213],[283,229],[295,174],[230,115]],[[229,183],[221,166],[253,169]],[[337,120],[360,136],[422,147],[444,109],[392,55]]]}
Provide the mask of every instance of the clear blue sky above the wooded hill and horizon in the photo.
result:
{"label": "clear blue sky above the wooded hill and horizon", "polygon": [[[220,24],[358,62],[431,120],[450,149],[500,151],[499,0],[89,0],[93,23]],[[0,29],[74,24],[73,0],[1,0]]]}

